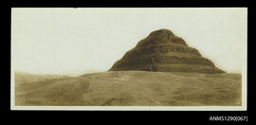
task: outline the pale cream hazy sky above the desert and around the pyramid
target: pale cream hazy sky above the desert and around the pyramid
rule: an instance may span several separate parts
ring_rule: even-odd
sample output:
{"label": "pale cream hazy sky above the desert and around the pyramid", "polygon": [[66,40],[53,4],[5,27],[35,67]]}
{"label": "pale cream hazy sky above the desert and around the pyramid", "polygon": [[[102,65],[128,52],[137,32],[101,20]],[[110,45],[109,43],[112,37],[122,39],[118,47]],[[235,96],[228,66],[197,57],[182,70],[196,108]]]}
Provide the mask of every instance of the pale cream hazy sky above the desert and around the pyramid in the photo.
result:
{"label": "pale cream hazy sky above the desert and around the pyramid", "polygon": [[227,72],[241,72],[247,9],[11,9],[12,68],[82,75],[107,71],[150,32],[171,29]]}

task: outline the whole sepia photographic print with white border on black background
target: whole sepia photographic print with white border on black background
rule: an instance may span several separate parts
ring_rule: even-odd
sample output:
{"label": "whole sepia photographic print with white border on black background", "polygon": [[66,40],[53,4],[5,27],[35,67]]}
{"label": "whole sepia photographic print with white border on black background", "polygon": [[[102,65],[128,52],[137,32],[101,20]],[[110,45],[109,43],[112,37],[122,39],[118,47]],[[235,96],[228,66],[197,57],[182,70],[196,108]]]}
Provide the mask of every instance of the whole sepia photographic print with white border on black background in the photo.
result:
{"label": "whole sepia photographic print with white border on black background", "polygon": [[12,8],[11,110],[247,111],[247,8]]}

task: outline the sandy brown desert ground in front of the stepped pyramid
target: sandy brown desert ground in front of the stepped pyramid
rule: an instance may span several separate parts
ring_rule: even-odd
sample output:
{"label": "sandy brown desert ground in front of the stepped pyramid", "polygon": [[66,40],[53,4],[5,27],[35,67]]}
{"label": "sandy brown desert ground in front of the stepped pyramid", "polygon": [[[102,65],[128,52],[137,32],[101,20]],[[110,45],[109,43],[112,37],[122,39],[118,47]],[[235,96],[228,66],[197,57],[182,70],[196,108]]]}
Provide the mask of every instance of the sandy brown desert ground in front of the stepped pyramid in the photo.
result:
{"label": "sandy brown desert ground in front of the stepped pyramid", "polygon": [[[29,78],[29,77],[23,77]],[[17,79],[17,106],[239,106],[240,74],[108,71]]]}

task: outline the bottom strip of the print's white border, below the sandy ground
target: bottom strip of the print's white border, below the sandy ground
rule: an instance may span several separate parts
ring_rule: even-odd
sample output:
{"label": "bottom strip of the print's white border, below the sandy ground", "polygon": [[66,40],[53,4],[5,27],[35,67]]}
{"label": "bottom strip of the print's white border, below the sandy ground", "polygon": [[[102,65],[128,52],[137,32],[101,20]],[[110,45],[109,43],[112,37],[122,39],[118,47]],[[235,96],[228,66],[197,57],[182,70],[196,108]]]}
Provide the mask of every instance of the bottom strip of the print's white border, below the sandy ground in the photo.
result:
{"label": "bottom strip of the print's white border, below the sandy ground", "polygon": [[246,111],[243,106],[14,106],[31,111]]}

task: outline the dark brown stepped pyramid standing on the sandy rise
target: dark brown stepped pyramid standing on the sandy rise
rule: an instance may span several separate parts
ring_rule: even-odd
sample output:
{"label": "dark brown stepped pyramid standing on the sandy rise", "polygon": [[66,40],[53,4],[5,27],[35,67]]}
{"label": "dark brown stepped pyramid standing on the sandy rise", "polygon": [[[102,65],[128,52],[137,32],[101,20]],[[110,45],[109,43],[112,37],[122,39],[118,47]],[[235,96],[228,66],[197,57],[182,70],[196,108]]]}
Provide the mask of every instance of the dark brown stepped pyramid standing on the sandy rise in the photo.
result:
{"label": "dark brown stepped pyramid standing on the sandy rise", "polygon": [[124,70],[225,73],[169,29],[151,32],[109,69]]}

